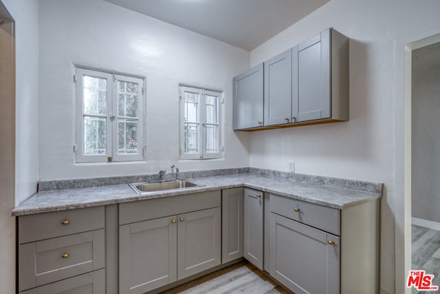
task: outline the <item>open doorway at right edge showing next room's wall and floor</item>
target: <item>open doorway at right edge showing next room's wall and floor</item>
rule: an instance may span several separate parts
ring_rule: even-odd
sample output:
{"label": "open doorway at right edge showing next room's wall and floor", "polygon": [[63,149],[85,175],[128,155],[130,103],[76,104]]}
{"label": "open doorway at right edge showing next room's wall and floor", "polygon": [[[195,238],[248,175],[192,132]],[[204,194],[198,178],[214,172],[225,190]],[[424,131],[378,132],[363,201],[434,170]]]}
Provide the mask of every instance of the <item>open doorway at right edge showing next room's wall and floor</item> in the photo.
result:
{"label": "open doorway at right edge showing next room's wall and floor", "polygon": [[440,42],[411,55],[411,269],[439,286]]}

